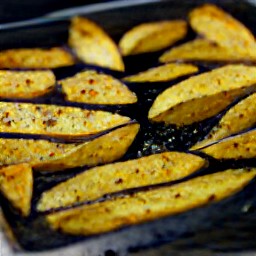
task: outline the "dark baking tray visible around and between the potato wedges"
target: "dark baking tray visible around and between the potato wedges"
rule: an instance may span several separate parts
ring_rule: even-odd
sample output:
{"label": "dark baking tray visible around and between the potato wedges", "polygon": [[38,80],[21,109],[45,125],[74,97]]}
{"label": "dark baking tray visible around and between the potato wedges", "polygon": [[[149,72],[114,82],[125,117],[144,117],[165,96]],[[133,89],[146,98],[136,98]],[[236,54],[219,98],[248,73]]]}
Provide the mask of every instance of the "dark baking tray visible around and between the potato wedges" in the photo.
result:
{"label": "dark baking tray visible around and between the potato wedges", "polygon": [[[125,2],[125,1],[123,1]],[[128,2],[128,1],[127,1]],[[86,17],[99,23],[113,38],[118,41],[121,35],[134,25],[142,22],[163,20],[163,19],[186,19],[187,13],[193,7],[205,2],[213,2],[229,13],[234,15],[254,34],[256,34],[256,7],[246,1],[152,1],[141,5],[131,4],[130,6],[116,8],[115,2],[111,3],[113,8],[108,10],[94,9],[86,12]],[[110,5],[111,7],[111,5]],[[14,24],[0,26],[0,49],[20,48],[20,47],[50,47],[63,45],[67,41],[68,26],[70,23],[69,12],[65,12],[58,17],[41,18],[28,24]],[[75,14],[83,15],[79,10]],[[53,16],[53,15],[52,15]],[[57,16],[57,15],[55,15]],[[63,16],[63,17],[61,17]],[[190,32],[186,40],[195,35]],[[136,57],[125,58],[126,74],[133,73],[157,64],[157,54],[143,54]],[[135,63],[137,63],[135,65]],[[83,68],[92,68],[84,64],[77,64],[73,67],[60,68],[55,70],[57,78],[72,75]],[[200,70],[209,70],[212,66],[201,65]],[[119,72],[111,73],[116,77],[124,74]],[[202,137],[214,122],[220,117],[214,117],[194,126],[186,127],[177,131],[174,127],[163,128],[162,125],[151,125],[146,120],[146,113],[156,95],[169,87],[172,83],[143,85],[142,89],[137,89],[135,85],[130,85],[139,97],[141,107],[125,106],[117,108],[103,107],[113,112],[127,114],[137,119],[142,124],[142,131],[139,139],[132,146],[125,156],[126,159],[139,155],[147,155],[164,150],[186,151],[193,141]],[[145,93],[146,92],[146,93]],[[38,102],[65,104],[61,96],[56,92],[48,99],[38,99]],[[97,108],[97,106],[82,106]],[[143,114],[143,115],[141,115]],[[193,131],[198,134],[191,136]],[[152,135],[152,134],[157,135]],[[174,136],[170,144],[163,143],[167,138]],[[150,146],[146,146],[146,145]],[[209,159],[211,166],[215,169],[225,169],[230,166],[256,166],[255,160],[248,162],[218,163]],[[57,181],[66,179],[79,170],[56,175],[36,175],[34,201],[36,202],[39,193],[52,186]],[[207,172],[211,172],[208,169]],[[43,185],[42,185],[43,184]],[[148,250],[148,248],[158,248],[162,244],[161,255],[176,255],[176,253],[186,253],[192,255],[221,255],[223,253],[244,253],[252,252],[256,249],[254,234],[256,231],[256,184],[252,181],[243,191],[237,195],[225,199],[219,203],[194,209],[176,216],[162,218],[149,223],[123,228],[116,232],[94,236],[90,238],[69,237],[55,235],[45,228],[42,217],[32,215],[26,219],[20,219],[11,208],[5,204],[1,198],[4,216],[8,225],[14,230],[15,239],[11,239],[10,244],[15,253],[38,254],[40,255],[159,255],[158,249]],[[23,228],[26,226],[27,228]],[[3,242],[4,243],[4,242]],[[7,246],[5,244],[5,246]],[[65,246],[63,248],[63,246]],[[55,248],[55,250],[53,250]],[[42,253],[43,251],[43,253]],[[172,253],[172,254],[169,254]],[[252,252],[253,253],[253,252]],[[182,254],[181,254],[182,255]],[[254,254],[252,254],[254,255]]]}

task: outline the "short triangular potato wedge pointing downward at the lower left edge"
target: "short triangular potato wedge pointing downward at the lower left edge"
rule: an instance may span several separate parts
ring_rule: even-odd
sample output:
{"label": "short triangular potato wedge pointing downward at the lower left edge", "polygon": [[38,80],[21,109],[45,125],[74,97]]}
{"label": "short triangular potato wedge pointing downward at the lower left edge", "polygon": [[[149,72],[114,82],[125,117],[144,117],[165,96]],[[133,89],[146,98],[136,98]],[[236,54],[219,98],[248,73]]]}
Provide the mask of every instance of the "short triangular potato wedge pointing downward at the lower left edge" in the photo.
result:
{"label": "short triangular potato wedge pointing downward at the lower left edge", "polygon": [[33,192],[31,166],[18,164],[1,168],[0,191],[24,217],[28,216]]}

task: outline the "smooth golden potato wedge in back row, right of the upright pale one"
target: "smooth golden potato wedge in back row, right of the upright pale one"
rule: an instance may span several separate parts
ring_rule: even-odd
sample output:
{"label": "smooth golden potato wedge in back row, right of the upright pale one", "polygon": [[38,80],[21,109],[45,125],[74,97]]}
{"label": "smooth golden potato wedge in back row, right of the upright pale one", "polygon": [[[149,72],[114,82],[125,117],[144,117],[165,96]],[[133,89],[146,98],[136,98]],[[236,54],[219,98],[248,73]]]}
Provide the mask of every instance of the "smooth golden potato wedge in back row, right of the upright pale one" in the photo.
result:
{"label": "smooth golden potato wedge in back row, right of the upright pale one", "polygon": [[140,24],[126,32],[119,42],[124,56],[162,50],[184,38],[187,23],[183,20]]}

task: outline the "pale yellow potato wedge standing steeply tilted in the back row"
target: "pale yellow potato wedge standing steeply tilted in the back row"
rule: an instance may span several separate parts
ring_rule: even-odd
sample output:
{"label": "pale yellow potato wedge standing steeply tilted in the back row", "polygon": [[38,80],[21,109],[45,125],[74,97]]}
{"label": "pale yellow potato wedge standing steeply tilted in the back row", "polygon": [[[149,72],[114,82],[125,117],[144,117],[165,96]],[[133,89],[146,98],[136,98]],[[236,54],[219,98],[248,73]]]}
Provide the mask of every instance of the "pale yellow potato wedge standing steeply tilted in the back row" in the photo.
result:
{"label": "pale yellow potato wedge standing steeply tilted in the back row", "polygon": [[91,20],[82,17],[73,18],[68,42],[85,63],[124,71],[124,63],[116,44]]}

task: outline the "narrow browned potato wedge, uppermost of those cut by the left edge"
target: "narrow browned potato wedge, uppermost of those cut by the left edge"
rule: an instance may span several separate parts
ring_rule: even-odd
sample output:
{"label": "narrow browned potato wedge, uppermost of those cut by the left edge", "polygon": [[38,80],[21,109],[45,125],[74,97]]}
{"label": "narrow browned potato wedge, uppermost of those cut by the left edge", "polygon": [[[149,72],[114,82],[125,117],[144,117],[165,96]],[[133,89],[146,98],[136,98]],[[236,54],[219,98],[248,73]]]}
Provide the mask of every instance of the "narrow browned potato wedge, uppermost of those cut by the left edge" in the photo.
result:
{"label": "narrow browned potato wedge, uppermost of those cut by the left edge", "polygon": [[57,68],[73,64],[73,56],[61,47],[0,51],[0,68]]}

